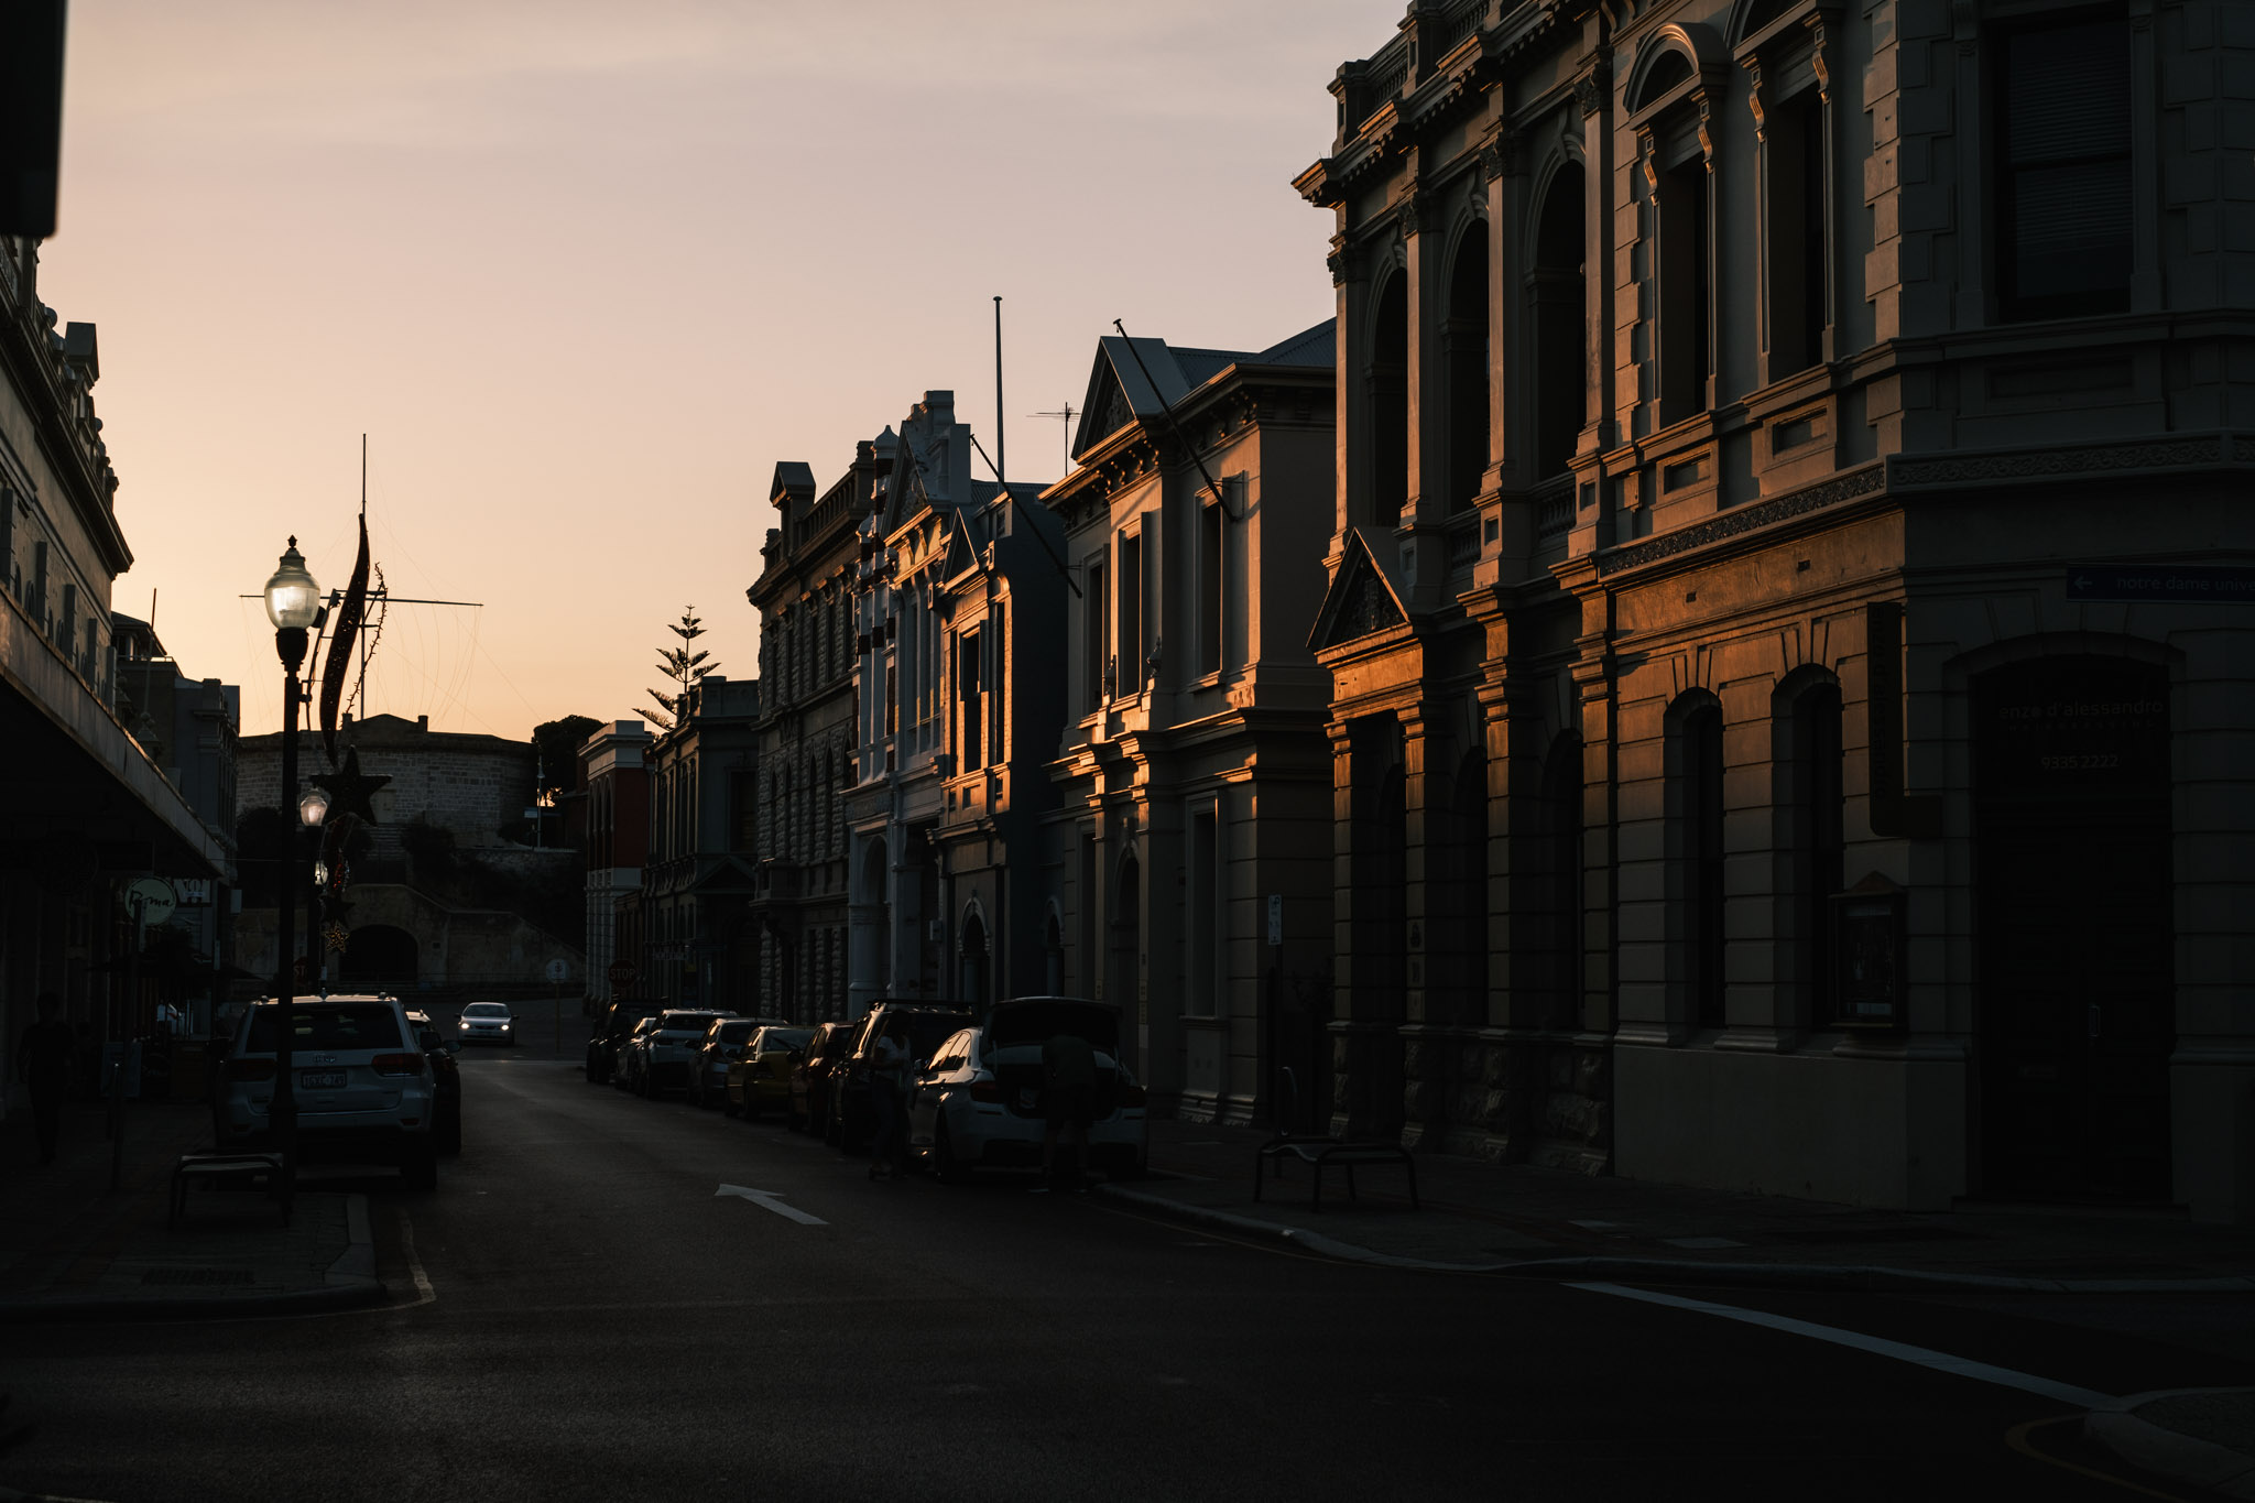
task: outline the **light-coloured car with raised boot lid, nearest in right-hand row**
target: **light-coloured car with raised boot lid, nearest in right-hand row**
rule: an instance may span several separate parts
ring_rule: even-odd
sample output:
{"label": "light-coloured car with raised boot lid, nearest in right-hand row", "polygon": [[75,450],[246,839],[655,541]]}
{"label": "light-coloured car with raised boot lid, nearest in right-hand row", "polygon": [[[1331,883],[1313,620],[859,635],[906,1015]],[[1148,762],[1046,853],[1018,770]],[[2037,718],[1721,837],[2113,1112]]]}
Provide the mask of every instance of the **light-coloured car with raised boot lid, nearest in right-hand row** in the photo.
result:
{"label": "light-coloured car with raised boot lid, nearest in right-hand row", "polygon": [[945,1039],[909,1093],[909,1154],[940,1181],[979,1167],[1040,1167],[1042,1046],[1055,1034],[1078,1034],[1096,1052],[1087,1163],[1114,1179],[1141,1176],[1150,1122],[1143,1086],[1118,1057],[1118,1007],[1073,996],[994,1003],[983,1025]]}

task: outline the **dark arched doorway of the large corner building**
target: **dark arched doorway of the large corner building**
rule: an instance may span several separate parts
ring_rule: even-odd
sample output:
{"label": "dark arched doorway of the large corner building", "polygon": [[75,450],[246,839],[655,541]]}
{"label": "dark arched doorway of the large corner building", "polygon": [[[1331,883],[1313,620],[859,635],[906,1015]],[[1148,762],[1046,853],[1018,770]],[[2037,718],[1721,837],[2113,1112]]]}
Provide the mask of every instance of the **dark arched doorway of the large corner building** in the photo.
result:
{"label": "dark arched doorway of the large corner building", "polygon": [[1987,1194],[2169,1199],[2169,676],[2041,658],[1973,685]]}

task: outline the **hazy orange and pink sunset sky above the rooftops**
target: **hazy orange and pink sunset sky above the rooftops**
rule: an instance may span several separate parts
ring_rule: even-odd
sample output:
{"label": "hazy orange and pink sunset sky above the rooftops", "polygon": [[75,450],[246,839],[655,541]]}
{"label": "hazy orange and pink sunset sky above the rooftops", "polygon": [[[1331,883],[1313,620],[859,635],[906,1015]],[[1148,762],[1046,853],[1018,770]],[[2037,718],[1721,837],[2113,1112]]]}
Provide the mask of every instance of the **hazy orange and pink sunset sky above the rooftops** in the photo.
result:
{"label": "hazy orange and pink sunset sky above the rooftops", "polygon": [[1394,0],[77,0],[41,297],[99,329],[133,568],[180,669],[280,728],[255,595],[399,604],[363,714],[640,714],[695,606],[749,678],[778,462],[927,388],[1064,471],[1096,338],[1330,315],[1335,68]]}

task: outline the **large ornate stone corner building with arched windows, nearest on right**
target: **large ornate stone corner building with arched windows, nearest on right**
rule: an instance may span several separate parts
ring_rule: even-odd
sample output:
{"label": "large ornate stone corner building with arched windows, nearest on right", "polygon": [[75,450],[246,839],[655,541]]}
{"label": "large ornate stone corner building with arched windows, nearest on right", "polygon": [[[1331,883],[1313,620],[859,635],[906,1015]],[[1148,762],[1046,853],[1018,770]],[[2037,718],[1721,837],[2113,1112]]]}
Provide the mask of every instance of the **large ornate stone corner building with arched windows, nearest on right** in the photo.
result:
{"label": "large ornate stone corner building with arched windows, nearest on right", "polygon": [[2250,43],[1459,0],[1339,70],[1342,1124],[2255,1219]]}

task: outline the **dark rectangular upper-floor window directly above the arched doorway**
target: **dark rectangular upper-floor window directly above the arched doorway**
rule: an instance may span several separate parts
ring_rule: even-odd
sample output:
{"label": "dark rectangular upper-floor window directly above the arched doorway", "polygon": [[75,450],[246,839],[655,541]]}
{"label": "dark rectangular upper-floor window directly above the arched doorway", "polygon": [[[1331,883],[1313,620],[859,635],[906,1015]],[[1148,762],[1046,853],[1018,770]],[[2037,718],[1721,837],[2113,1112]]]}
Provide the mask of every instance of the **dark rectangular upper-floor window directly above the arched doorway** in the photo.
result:
{"label": "dark rectangular upper-floor window directly above the arched doorway", "polygon": [[2079,20],[2007,32],[1998,83],[2002,315],[2129,306],[2129,32]]}

